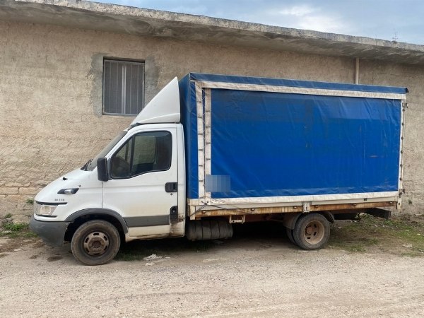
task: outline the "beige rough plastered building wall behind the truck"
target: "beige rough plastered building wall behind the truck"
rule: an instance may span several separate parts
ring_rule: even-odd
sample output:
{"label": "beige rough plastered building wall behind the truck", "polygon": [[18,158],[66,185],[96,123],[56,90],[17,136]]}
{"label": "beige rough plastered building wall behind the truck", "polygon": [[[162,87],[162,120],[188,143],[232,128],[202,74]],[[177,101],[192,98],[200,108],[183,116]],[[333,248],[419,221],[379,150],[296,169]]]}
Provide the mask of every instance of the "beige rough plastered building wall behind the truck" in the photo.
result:
{"label": "beige rough plastered building wall behind the truck", "polygon": [[[81,167],[132,117],[101,114],[102,59],[146,61],[146,102],[189,71],[353,83],[355,61],[0,21],[0,216],[28,216],[28,199]],[[360,83],[407,86],[405,211],[424,206],[424,68],[360,62]]]}

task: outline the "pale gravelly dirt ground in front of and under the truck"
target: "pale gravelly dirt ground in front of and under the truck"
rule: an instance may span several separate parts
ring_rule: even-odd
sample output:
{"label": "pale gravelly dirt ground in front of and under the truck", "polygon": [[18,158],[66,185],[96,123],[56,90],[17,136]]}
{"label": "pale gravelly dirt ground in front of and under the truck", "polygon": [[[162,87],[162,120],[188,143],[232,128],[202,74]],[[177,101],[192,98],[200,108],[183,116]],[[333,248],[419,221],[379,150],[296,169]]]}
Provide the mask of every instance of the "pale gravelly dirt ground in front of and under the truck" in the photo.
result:
{"label": "pale gravelly dirt ground in front of and under the truck", "polygon": [[[0,237],[1,316],[424,317],[424,257],[331,245],[305,252],[280,230],[139,241],[94,267],[78,264],[69,245]],[[126,261],[153,252],[160,258]]]}

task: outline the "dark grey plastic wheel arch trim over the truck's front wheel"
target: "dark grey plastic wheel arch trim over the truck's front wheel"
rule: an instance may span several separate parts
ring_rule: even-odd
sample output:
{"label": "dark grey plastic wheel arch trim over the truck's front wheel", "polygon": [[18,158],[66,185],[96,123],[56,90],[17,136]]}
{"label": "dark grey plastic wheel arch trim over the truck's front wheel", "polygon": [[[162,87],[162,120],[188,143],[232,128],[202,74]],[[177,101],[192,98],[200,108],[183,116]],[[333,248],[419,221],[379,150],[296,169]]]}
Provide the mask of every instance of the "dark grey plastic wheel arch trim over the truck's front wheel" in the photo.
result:
{"label": "dark grey plastic wheel arch trim over the truck's front wheel", "polygon": [[89,220],[105,220],[112,223],[122,237],[128,233],[128,225],[126,225],[124,218],[116,211],[107,208],[86,208],[72,213],[66,218],[65,221],[70,222],[70,224],[65,232],[65,241],[70,242],[76,229]]}

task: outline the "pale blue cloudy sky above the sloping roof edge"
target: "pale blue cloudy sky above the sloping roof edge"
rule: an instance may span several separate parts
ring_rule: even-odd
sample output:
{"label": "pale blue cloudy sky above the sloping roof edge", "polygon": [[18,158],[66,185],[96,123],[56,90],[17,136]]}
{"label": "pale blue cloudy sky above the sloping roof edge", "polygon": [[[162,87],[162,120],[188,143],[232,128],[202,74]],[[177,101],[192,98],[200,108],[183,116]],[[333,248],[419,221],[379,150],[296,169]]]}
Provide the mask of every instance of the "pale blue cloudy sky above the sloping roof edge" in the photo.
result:
{"label": "pale blue cloudy sky above the sloping roof edge", "polygon": [[424,0],[95,0],[424,45]]}

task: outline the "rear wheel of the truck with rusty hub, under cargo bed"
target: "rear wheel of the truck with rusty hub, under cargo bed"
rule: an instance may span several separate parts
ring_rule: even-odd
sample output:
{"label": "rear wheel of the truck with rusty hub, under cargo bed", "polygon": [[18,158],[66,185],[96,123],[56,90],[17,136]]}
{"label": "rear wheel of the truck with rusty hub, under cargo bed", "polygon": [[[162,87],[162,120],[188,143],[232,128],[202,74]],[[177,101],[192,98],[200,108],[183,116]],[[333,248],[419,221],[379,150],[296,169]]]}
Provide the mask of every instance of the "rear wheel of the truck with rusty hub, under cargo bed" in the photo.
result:
{"label": "rear wheel of the truck with rusty hub, under cargo bed", "polygon": [[293,230],[293,238],[302,249],[321,249],[329,237],[330,223],[318,213],[301,216]]}

